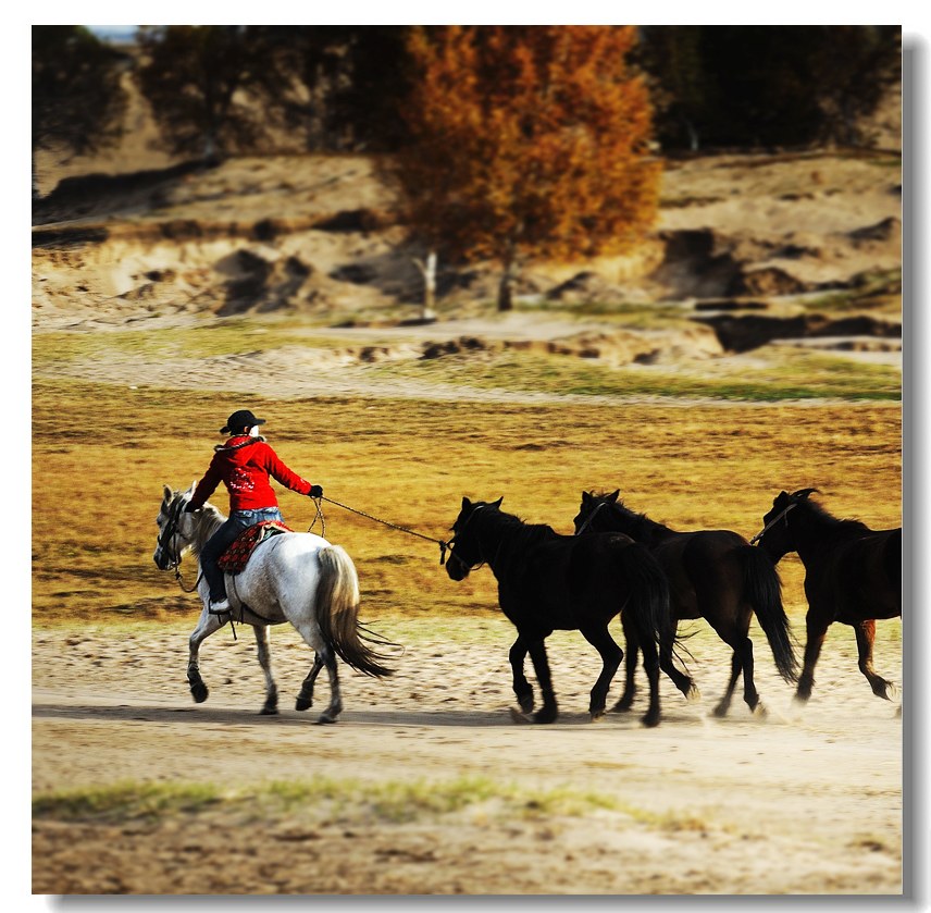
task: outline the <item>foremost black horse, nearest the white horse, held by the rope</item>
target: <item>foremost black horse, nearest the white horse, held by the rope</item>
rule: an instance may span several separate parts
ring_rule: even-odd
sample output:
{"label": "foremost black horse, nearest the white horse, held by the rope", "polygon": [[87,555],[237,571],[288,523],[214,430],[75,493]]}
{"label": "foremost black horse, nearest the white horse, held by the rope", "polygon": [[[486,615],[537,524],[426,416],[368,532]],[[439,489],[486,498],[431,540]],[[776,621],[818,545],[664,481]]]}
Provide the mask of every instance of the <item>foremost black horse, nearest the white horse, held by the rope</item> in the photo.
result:
{"label": "foremost black horse, nearest the white horse, held by the rope", "polygon": [[500,509],[502,498],[472,503],[452,525],[446,571],[464,580],[469,571],[487,564],[498,581],[498,603],[518,629],[509,658],[513,689],[521,710],[533,710],[533,689],[524,676],[530,653],[543,693],[535,723],[553,723],[558,715],[544,641],[555,630],[579,630],[601,656],[601,674],[591,693],[593,719],[605,713],[611,679],[623,651],[608,632],[622,614],[637,632],[649,679],[647,726],[659,723],[660,643],[671,644],[675,625],[669,609],[666,577],[649,552],[626,535],[560,535],[550,527],[524,523]]}

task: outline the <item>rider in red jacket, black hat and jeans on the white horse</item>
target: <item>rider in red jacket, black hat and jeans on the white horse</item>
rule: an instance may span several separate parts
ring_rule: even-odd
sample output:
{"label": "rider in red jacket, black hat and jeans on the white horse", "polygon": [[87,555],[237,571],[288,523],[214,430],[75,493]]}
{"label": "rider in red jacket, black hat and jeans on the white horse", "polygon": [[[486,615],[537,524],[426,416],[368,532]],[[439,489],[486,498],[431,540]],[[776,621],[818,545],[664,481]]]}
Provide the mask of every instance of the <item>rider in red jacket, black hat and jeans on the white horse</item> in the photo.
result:
{"label": "rider in red jacket, black hat and jeans on the white horse", "polygon": [[223,571],[216,567],[220,556],[247,527],[263,520],[284,522],[269,477],[298,494],[323,495],[320,485],[311,485],[288,469],[265,439],[259,436],[259,425],[264,423],[264,419],[257,419],[249,409],[229,416],[220,433],[231,436],[225,444],[213,448],[213,459],[185,507],[187,511],[199,510],[221,482],[229,492],[229,519],[200,552],[200,568],[210,585],[210,612],[218,615],[229,612]]}

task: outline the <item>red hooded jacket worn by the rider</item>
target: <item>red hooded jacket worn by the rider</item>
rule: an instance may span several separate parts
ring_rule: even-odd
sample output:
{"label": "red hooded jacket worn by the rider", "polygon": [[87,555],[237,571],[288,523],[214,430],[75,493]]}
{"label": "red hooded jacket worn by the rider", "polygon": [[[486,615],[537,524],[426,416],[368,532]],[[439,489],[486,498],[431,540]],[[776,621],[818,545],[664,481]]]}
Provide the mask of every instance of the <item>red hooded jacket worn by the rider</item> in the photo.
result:
{"label": "red hooded jacket worn by the rider", "polygon": [[202,507],[220,482],[229,491],[231,510],[277,507],[269,476],[298,494],[310,493],[310,482],[291,472],[263,437],[236,434],[214,447],[213,459],[190,499],[191,509]]}

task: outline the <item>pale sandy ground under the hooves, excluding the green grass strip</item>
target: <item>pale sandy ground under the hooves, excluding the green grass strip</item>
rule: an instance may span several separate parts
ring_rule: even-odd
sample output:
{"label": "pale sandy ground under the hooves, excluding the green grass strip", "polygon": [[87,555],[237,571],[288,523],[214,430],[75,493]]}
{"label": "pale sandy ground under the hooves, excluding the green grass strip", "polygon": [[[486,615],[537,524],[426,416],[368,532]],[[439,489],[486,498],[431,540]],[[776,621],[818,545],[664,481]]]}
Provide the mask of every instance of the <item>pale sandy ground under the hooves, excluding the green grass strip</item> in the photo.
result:
{"label": "pale sandy ground under the hooves, excluding the green grass strip", "polygon": [[[663,679],[656,729],[633,715],[585,713],[597,658],[576,632],[549,640],[561,716],[514,725],[497,613],[457,621],[455,639],[423,620],[378,622],[405,645],[397,674],[344,667],[336,726],[294,710],[309,654],[273,632],[278,716],[260,716],[263,682],[248,629],[204,644],[212,688],[196,705],[184,680],[190,625],[33,633],[36,793],[137,781],[229,787],[316,777],[445,782],[485,777],[522,789],[569,787],[624,809],[517,816],[481,803],[393,823],[376,816],[204,811],[152,823],[33,822],[36,893],[324,895],[895,895],[902,881],[902,719],[856,668],[849,629],[829,632],[804,708],[777,676],[754,626],[768,714],[737,696],[710,717],[727,647],[690,642],[702,700]],[[427,622],[430,624],[430,622]],[[448,625],[449,622],[447,622]],[[898,620],[880,622],[877,667],[901,681]],[[697,625],[697,628],[702,628]],[[447,631],[451,628],[447,628]],[[533,679],[532,679],[533,680]],[[620,691],[616,680],[612,694]],[[88,860],[92,860],[88,864]]]}

